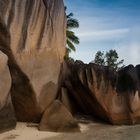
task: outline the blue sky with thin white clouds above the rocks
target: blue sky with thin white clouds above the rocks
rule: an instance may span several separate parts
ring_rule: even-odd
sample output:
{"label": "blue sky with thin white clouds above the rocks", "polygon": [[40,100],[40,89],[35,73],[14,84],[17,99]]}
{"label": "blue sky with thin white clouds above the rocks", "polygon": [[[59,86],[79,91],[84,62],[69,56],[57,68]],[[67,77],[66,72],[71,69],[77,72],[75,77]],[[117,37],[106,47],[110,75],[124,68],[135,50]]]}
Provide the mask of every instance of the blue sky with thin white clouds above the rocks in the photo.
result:
{"label": "blue sky with thin white clouds above the rocks", "polygon": [[116,49],[124,64],[140,64],[140,0],[64,0],[80,27],[76,60],[89,63],[97,51]]}

